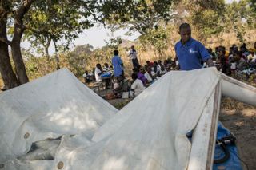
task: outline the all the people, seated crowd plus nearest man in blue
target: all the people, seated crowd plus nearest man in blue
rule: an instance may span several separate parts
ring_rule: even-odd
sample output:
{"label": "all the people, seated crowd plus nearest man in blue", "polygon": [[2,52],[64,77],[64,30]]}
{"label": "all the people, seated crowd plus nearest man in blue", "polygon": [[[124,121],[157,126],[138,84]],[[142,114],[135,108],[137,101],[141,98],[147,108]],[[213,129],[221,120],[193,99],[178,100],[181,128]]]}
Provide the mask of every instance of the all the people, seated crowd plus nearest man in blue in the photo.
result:
{"label": "all the people, seated crowd plus nearest man in blue", "polygon": [[[99,63],[96,65],[95,80],[97,82],[105,81],[106,87],[111,85],[115,97],[123,97],[123,93],[128,93],[130,97],[136,97],[170,70],[189,71],[215,66],[220,72],[232,77],[239,78],[245,75],[248,78],[251,74],[256,74],[256,42],[250,49],[247,49],[246,43],[243,43],[239,47],[235,44],[232,45],[228,52],[222,45],[213,51],[210,48],[206,49],[201,42],[191,37],[189,24],[183,23],[179,27],[178,33],[181,35],[181,40],[175,45],[176,57],[174,59],[168,58],[163,62],[161,60],[146,61],[146,63],[140,64],[137,51],[132,45],[129,53],[133,65],[133,73],[130,75],[132,81],[128,81],[124,76],[123,62],[119,57],[118,50],[114,50],[111,66],[107,63],[103,68]],[[109,78],[104,78],[112,76],[114,77],[112,83]],[[87,82],[91,80],[88,73],[85,73],[84,77]]]}

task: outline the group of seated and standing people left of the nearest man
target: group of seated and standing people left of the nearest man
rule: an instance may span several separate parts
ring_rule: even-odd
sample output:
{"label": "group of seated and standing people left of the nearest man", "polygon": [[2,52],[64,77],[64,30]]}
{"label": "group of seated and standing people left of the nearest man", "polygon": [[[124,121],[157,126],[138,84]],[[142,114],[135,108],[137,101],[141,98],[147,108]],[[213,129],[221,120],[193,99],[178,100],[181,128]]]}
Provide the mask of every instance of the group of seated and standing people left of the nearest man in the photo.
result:
{"label": "group of seated and standing people left of the nearest man", "polygon": [[[129,78],[125,77],[124,68],[121,57],[119,57],[118,50],[114,50],[114,57],[112,57],[111,65],[104,63],[104,66],[98,63],[93,70],[93,73],[88,73],[86,70],[83,74],[86,83],[91,81],[104,82],[106,88],[112,84],[112,89],[115,97],[122,97],[122,93],[129,93],[129,97],[136,97],[139,93],[142,93],[146,87],[151,85],[154,81],[161,77],[168,71],[175,69],[175,61],[170,58],[165,61],[146,61],[142,66],[138,62],[137,52],[134,46],[130,48],[130,60],[133,65],[133,73]],[[106,77],[106,78],[104,78]],[[110,82],[112,81],[112,83]]]}

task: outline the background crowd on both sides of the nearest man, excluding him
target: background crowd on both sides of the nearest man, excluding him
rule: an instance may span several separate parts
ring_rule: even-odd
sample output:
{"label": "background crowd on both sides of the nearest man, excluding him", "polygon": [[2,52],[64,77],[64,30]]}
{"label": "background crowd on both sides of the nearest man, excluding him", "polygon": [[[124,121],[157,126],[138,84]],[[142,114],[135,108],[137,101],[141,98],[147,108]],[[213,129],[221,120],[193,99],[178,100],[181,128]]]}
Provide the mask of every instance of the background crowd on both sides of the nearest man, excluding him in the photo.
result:
{"label": "background crowd on both sides of the nearest man, excluding him", "polygon": [[[254,47],[247,49],[246,44],[232,45],[230,50],[227,52],[226,48],[222,45],[212,49],[207,49],[214,66],[229,76],[241,76],[246,75],[249,77],[251,74],[256,73],[256,42]],[[168,58],[164,61],[146,61],[144,65],[140,65],[137,58],[137,52],[134,46],[130,50],[130,59],[134,69],[130,75],[131,81],[124,76],[124,69],[121,57],[118,55],[118,50],[114,50],[114,57],[112,58],[111,65],[108,63],[97,64],[93,73],[86,73],[83,75],[85,81],[105,81],[106,87],[112,85],[114,95],[116,97],[122,97],[122,93],[129,93],[130,96],[136,97],[139,93],[142,93],[146,87],[154,83],[163,74],[170,70],[178,69],[178,58]],[[202,67],[205,67],[206,63],[202,62]],[[111,79],[104,79],[104,77],[114,77]]]}

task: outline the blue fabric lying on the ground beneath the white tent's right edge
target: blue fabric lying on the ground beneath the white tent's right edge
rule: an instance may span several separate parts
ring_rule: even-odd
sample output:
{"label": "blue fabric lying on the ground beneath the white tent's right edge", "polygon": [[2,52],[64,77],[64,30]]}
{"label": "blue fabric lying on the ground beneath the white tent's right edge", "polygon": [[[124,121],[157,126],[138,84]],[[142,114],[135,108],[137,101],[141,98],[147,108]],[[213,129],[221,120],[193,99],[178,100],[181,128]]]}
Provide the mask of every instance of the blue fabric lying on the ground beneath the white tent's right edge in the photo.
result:
{"label": "blue fabric lying on the ground beneath the white tent's right edge", "polygon": [[[222,123],[218,122],[217,139],[220,140],[222,137],[230,135],[230,131],[223,127]],[[226,145],[230,151],[230,159],[222,164],[214,164],[213,170],[218,170],[218,167],[222,167],[223,170],[242,170],[242,165],[238,159],[238,149],[235,145]],[[222,148],[216,144],[214,159],[220,159],[224,156]]]}

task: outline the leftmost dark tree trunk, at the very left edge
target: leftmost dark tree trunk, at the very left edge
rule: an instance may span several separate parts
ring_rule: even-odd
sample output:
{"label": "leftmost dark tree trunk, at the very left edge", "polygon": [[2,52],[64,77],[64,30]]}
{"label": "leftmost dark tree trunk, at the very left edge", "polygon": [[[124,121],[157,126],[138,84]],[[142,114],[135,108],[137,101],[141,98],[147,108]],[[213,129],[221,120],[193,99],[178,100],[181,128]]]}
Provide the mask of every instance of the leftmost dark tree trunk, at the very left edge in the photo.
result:
{"label": "leftmost dark tree trunk, at the very left edge", "polygon": [[[7,39],[6,19],[7,19],[7,15],[5,15],[0,21],[0,37],[3,39]],[[1,42],[1,41],[0,41],[0,73],[2,75],[2,80],[6,85],[6,89],[12,89],[19,85],[18,79],[10,64],[8,45],[6,44],[6,42]]]}

